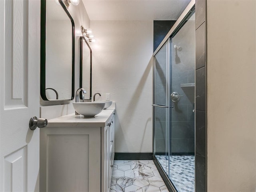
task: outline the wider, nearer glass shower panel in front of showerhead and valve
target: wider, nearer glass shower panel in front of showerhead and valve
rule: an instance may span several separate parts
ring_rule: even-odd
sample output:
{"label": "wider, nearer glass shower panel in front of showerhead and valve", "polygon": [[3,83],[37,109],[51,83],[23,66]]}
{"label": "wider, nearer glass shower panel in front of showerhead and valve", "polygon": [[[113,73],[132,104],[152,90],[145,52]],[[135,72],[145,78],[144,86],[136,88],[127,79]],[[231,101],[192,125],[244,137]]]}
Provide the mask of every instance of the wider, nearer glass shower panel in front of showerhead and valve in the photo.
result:
{"label": "wider, nearer glass shower panel in front of showerhead and valve", "polygon": [[194,192],[195,16],[170,44],[169,178],[178,192]]}

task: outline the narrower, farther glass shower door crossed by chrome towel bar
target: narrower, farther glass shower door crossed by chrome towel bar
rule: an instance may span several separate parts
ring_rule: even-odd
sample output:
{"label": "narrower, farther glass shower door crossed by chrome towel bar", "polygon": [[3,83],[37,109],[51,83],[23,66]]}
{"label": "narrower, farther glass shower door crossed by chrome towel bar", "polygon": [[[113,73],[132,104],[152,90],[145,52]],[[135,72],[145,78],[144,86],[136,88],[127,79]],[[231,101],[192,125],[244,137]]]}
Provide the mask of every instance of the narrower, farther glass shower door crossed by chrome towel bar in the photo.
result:
{"label": "narrower, farther glass shower door crossed by chrome towel bar", "polygon": [[154,61],[154,155],[169,175],[169,40]]}

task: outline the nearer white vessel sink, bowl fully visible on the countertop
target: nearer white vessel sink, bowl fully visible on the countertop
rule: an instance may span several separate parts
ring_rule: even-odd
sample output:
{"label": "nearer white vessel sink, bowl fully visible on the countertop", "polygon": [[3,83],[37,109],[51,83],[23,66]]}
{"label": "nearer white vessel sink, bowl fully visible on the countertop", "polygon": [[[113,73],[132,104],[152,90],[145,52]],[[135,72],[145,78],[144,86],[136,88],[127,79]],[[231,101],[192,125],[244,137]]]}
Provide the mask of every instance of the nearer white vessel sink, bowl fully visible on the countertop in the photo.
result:
{"label": "nearer white vessel sink, bowl fully visible on the countertop", "polygon": [[76,102],[73,103],[73,106],[80,115],[94,117],[102,112],[105,107],[105,102]]}

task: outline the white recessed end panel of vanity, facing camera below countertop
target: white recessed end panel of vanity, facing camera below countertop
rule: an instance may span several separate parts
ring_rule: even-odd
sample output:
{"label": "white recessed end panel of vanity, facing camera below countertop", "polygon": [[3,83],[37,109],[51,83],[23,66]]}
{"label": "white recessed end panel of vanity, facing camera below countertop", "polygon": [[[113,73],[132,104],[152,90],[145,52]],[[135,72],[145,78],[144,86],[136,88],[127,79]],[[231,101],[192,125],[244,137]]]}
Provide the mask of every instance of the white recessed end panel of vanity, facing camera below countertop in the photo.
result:
{"label": "white recessed end panel of vanity, facing camera below countertop", "polygon": [[100,134],[100,127],[40,129],[40,191],[105,192]]}

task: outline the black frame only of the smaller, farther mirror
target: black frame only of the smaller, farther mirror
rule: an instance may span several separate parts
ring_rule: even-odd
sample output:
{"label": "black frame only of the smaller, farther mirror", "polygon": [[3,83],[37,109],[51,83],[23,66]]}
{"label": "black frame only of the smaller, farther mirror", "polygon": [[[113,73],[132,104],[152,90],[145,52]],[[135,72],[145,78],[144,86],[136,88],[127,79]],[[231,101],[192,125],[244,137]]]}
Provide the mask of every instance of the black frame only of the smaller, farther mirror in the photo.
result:
{"label": "black frame only of the smaller, farther mirror", "polygon": [[[80,36],[80,78],[79,87],[82,87],[83,82],[83,40],[90,49],[90,100],[92,99],[92,49],[84,36]],[[82,99],[82,92],[80,92],[80,99]]]}

